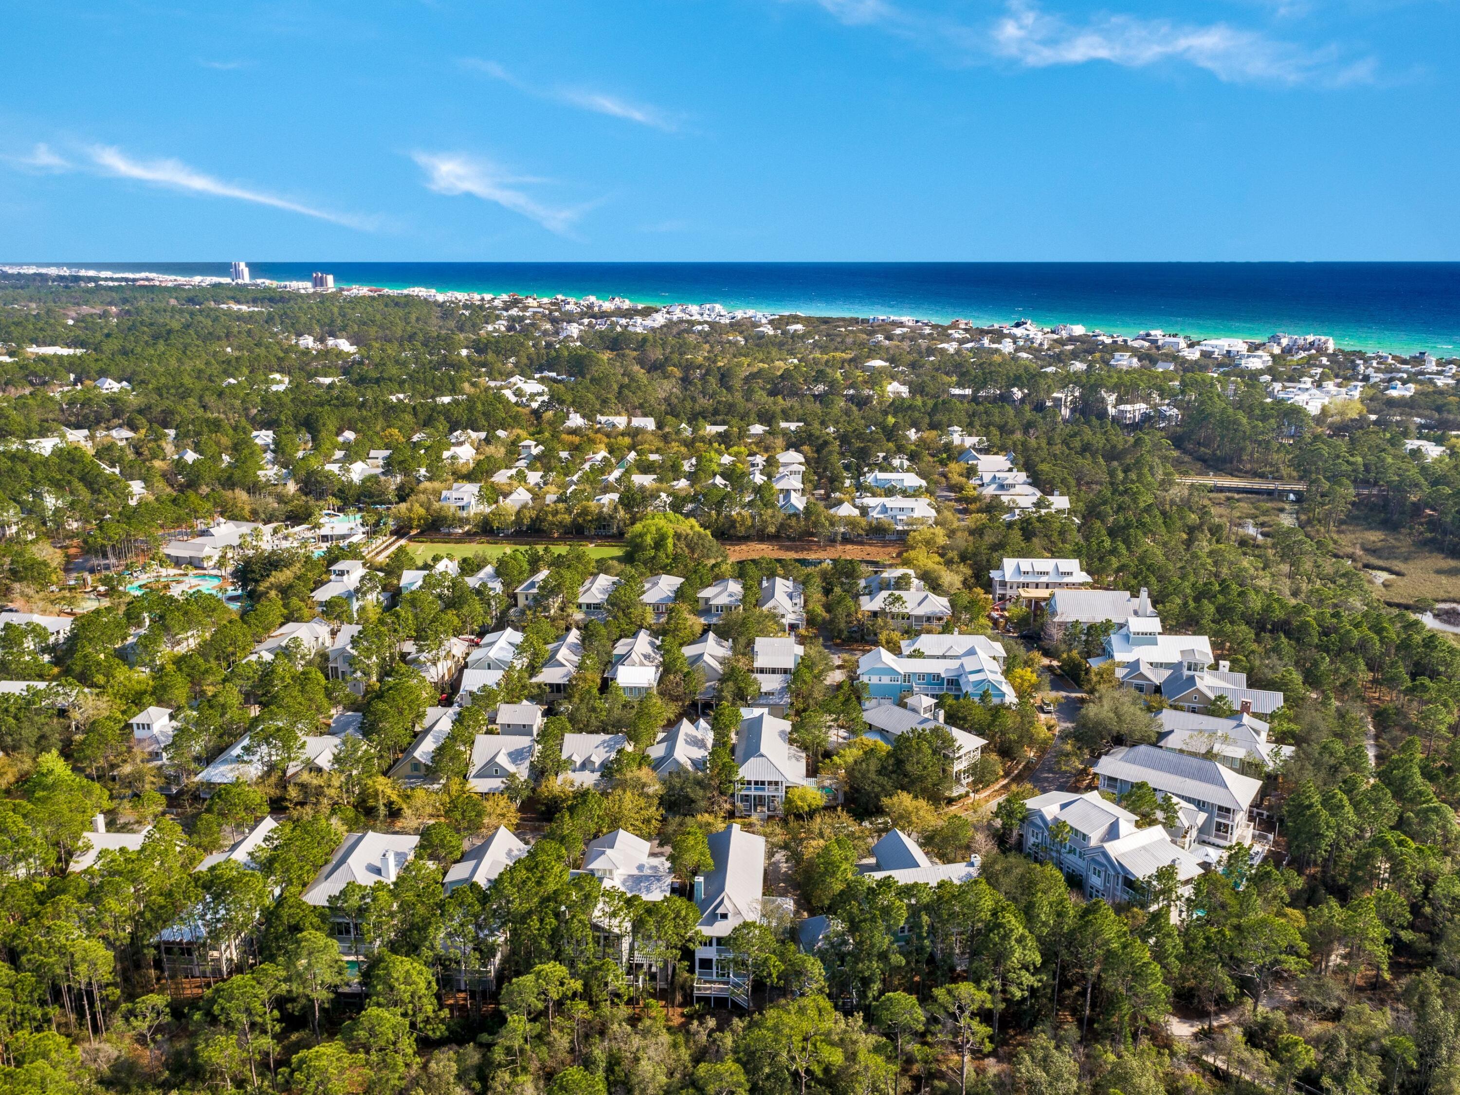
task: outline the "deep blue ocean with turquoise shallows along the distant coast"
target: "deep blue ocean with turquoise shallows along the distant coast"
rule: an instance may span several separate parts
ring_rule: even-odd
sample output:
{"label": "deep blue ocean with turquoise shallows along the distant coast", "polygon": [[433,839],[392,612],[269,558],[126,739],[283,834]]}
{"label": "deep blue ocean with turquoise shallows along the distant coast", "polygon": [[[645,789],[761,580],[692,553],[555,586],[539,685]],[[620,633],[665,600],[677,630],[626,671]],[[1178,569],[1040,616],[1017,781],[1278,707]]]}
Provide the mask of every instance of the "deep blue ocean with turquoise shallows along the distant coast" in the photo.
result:
{"label": "deep blue ocean with turquoise shallows along the distant coast", "polygon": [[[228,274],[228,263],[66,263]],[[911,315],[1130,334],[1266,339],[1329,334],[1342,346],[1456,356],[1460,263],[269,263],[256,277],[520,292],[639,304],[723,304],[807,315]]]}

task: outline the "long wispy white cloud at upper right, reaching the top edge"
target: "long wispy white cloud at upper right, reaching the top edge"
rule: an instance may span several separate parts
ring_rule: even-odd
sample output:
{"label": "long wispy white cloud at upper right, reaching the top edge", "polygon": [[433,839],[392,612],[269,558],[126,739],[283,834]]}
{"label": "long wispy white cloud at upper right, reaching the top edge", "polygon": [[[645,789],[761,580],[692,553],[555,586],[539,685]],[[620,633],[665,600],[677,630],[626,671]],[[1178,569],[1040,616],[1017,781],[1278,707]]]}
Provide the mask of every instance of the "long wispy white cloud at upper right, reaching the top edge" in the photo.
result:
{"label": "long wispy white cloud at upper right, reaching the top edge", "polygon": [[1105,61],[1127,69],[1181,63],[1229,83],[1339,86],[1374,77],[1371,60],[1345,61],[1332,45],[1308,48],[1228,23],[1181,23],[1130,15],[1072,22],[1031,0],[1009,0],[991,23],[971,25],[889,0],[812,3],[848,26],[877,29],[959,63],[1006,61],[1026,69]]}

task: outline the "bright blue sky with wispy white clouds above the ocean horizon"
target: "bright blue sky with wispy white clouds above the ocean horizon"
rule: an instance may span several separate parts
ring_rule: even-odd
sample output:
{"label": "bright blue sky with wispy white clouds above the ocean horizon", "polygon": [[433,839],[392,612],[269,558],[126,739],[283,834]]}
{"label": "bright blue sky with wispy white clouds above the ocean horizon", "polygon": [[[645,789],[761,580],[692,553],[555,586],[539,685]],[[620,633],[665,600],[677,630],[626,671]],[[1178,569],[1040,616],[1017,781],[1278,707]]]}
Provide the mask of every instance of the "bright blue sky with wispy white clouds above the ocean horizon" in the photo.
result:
{"label": "bright blue sky with wispy white clouds above the ocean horizon", "polygon": [[0,260],[1460,258],[1447,0],[9,0]]}

